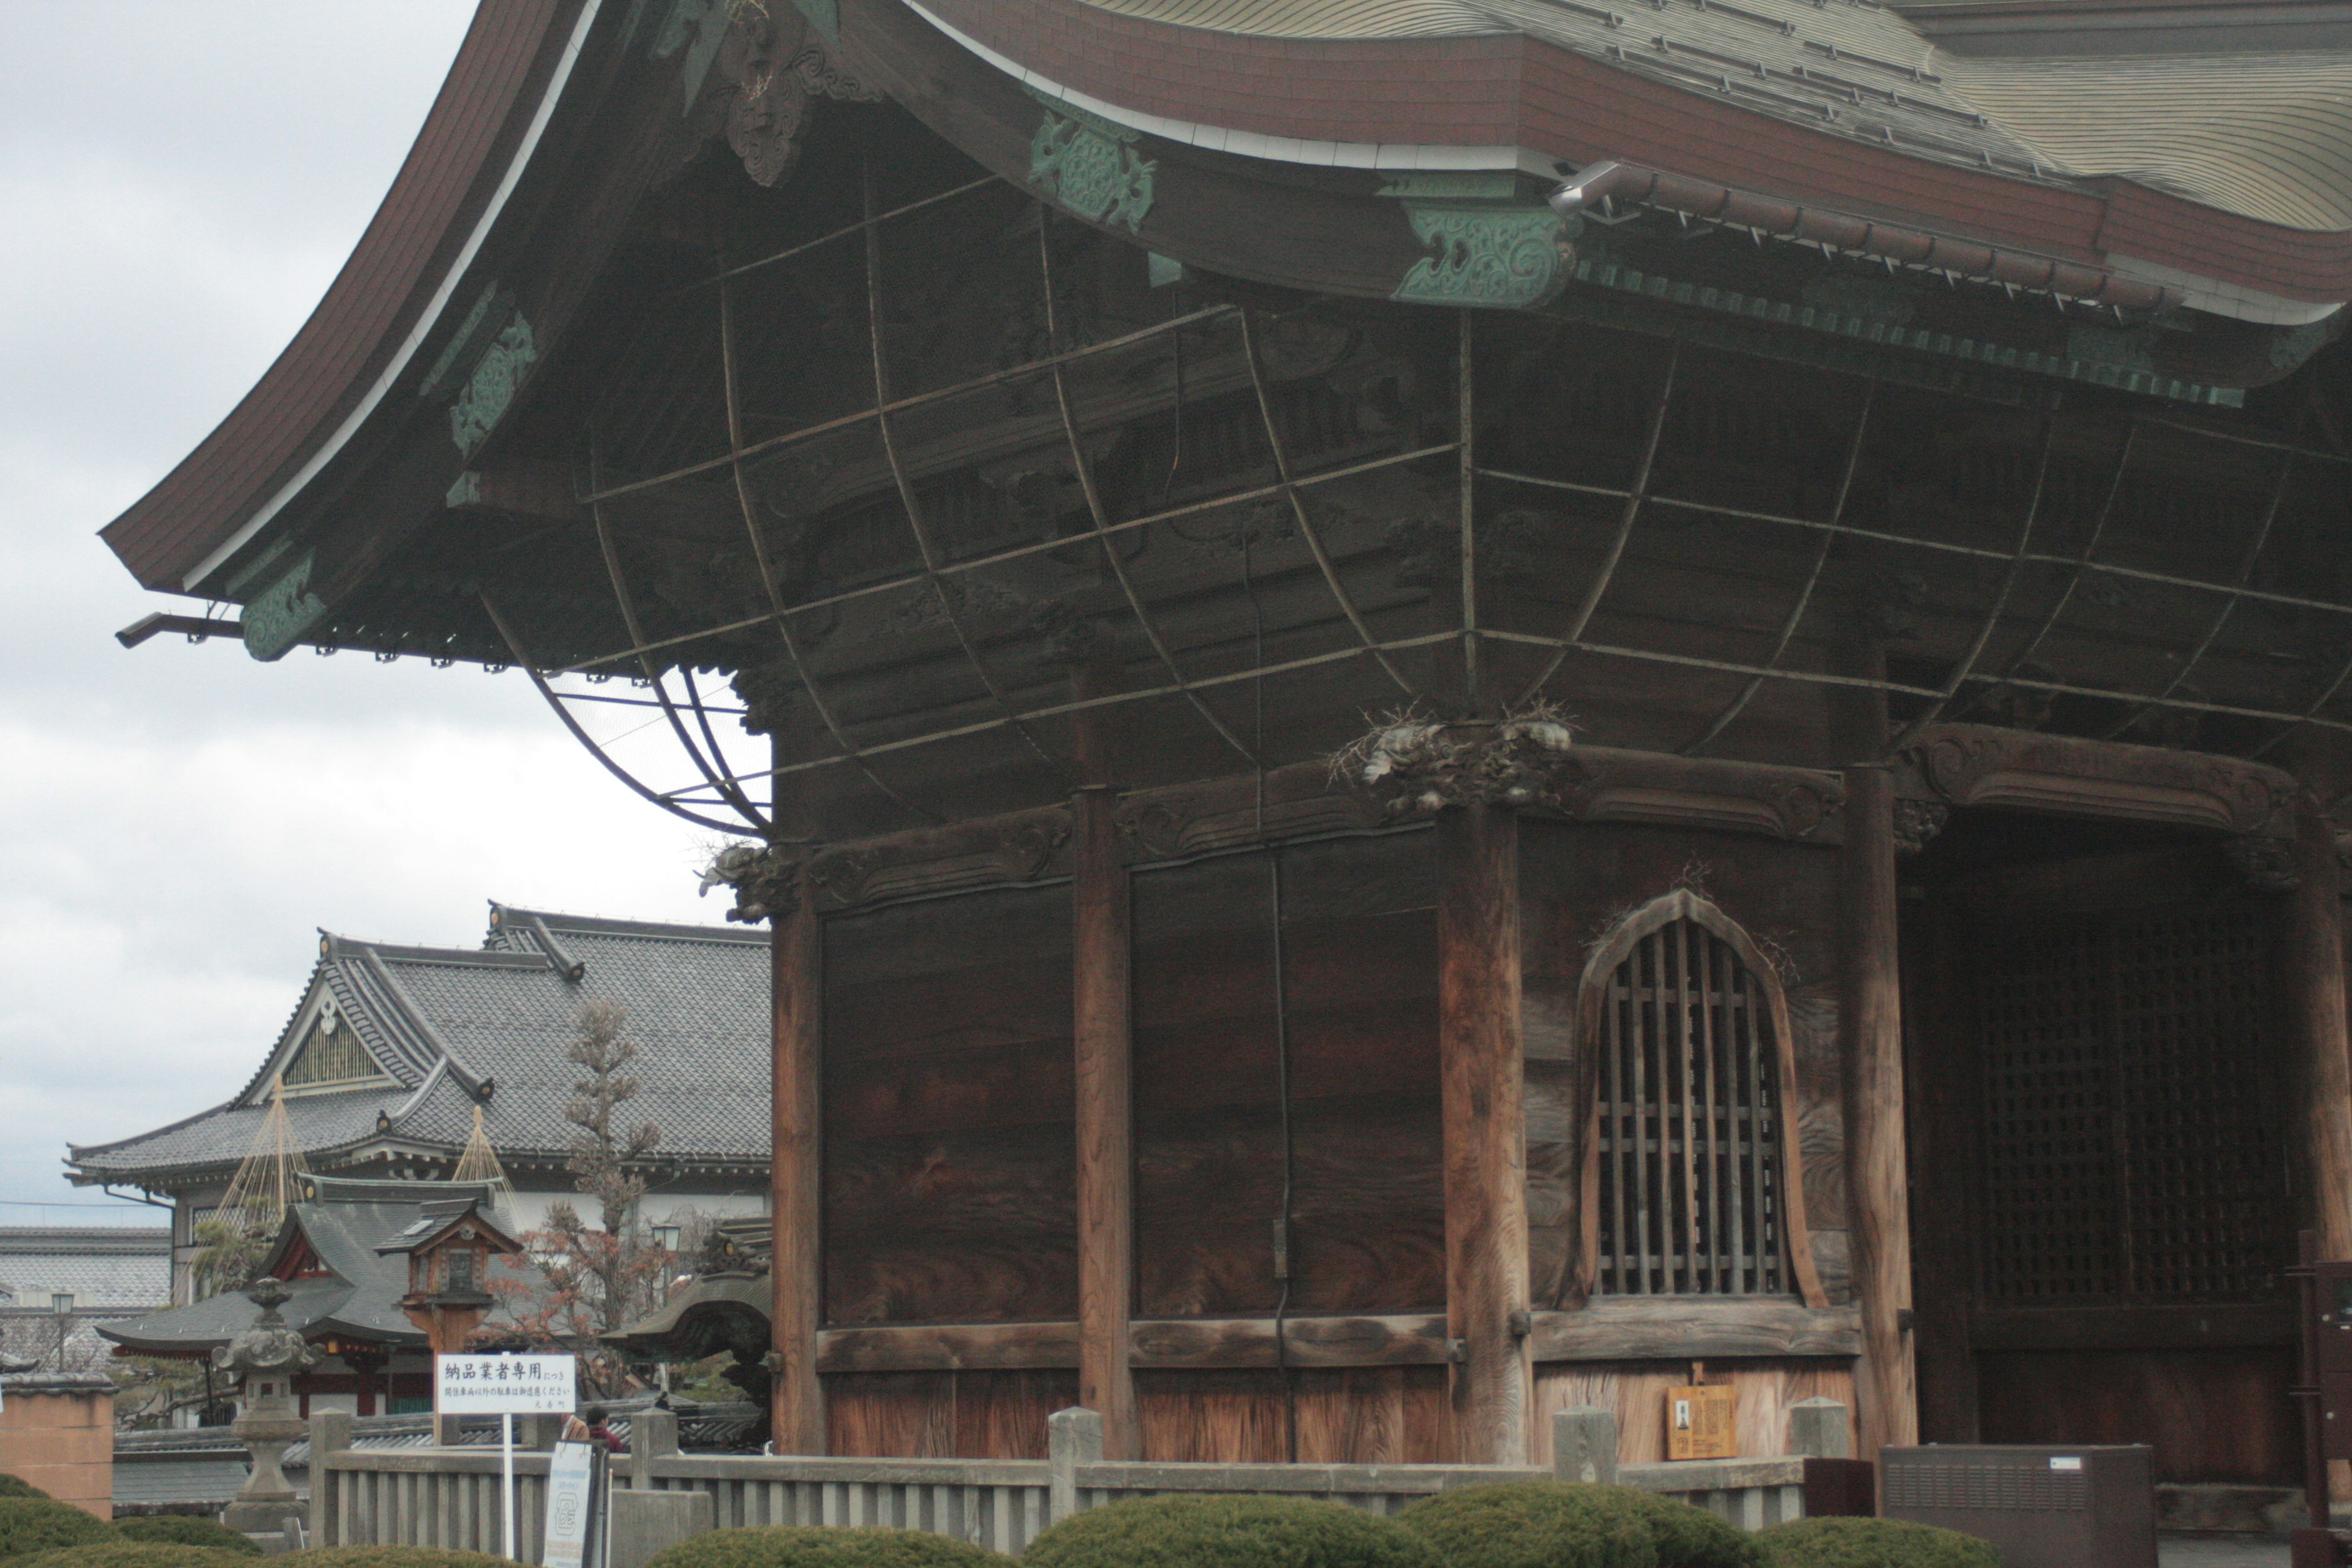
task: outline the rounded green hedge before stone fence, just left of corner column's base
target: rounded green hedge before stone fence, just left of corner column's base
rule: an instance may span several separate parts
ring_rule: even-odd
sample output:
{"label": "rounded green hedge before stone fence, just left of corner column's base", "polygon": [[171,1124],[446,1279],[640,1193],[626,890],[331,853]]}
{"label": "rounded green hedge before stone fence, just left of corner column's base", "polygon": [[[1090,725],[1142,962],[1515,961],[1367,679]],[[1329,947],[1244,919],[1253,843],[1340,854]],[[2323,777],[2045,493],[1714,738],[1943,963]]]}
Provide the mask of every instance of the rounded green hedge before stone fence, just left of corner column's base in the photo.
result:
{"label": "rounded green hedge before stone fence, just left of corner column's base", "polygon": [[[1395,1519],[1315,1497],[1136,1497],[1063,1519],[1023,1568],[1439,1568]],[[663,1566],[668,1568],[668,1566]]]}

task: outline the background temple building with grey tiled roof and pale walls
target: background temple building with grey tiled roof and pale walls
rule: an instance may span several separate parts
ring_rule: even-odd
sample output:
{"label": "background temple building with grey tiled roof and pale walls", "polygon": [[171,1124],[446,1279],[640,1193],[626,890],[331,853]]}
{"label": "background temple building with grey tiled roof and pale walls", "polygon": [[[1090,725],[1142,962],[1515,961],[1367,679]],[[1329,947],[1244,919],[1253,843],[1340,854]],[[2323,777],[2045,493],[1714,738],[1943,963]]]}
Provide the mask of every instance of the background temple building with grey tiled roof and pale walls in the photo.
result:
{"label": "background temple building with grey tiled roof and pale walls", "polygon": [[[273,1143],[273,1105],[301,1168],[374,1180],[449,1180],[480,1114],[510,1182],[501,1215],[515,1232],[536,1229],[550,1204],[581,1204],[564,1164],[579,1128],[564,1107],[583,1070],[564,1051],[588,999],[619,1001],[640,1051],[628,1067],[640,1091],[619,1121],[661,1128],[642,1222],[675,1246],[694,1220],[764,1213],[767,945],[727,926],[506,905],[492,905],[482,947],[322,933],[285,1030],[226,1103],[136,1138],[75,1145],[68,1175],[172,1199],[167,1300],[179,1305],[198,1295],[198,1225],[256,1143]],[[266,1229],[275,1234],[275,1213]]]}

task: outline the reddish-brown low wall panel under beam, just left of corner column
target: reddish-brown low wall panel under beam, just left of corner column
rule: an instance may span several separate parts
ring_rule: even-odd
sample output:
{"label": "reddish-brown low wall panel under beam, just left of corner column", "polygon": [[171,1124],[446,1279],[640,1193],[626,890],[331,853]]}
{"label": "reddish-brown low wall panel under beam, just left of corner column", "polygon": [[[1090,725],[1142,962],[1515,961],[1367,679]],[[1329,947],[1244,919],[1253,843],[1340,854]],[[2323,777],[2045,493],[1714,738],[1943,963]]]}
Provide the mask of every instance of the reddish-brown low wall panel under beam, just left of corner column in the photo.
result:
{"label": "reddish-brown low wall panel under beam, just left of corner column", "polygon": [[1454,1460],[1442,1366],[1136,1373],[1143,1458],[1160,1462],[1444,1465]]}

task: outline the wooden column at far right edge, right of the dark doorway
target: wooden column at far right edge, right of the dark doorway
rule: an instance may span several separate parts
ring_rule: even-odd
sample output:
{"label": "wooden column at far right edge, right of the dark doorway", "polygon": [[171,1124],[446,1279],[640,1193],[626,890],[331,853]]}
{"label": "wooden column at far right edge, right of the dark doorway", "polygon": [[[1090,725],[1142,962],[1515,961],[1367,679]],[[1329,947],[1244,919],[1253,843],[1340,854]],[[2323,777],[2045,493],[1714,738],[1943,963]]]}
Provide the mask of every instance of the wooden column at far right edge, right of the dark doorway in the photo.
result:
{"label": "wooden column at far right edge, right of the dark doorway", "polygon": [[2336,827],[2310,806],[2296,820],[2296,891],[2281,933],[2288,1039],[2300,1065],[2303,1161],[2319,1255],[2352,1258],[2352,1058],[2345,1053],[2343,870]]}

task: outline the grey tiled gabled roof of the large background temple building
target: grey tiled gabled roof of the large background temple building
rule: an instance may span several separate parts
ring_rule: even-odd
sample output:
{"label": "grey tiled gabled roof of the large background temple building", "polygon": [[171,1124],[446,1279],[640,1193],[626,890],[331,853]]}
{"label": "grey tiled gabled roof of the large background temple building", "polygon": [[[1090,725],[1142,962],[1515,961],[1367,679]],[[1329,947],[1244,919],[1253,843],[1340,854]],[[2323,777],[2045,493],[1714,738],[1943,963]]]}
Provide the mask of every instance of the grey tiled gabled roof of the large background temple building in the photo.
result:
{"label": "grey tiled gabled roof of the large background temple building", "polygon": [[628,1011],[640,1048],[628,1117],[661,1126],[659,1159],[767,1161],[764,933],[492,905],[482,947],[322,933],[301,1004],[228,1103],[136,1138],[73,1145],[71,1180],[169,1187],[233,1171],[268,1114],[275,1074],[327,999],[383,1081],[285,1095],[287,1124],[313,1166],[393,1152],[456,1159],[475,1105],[503,1159],[555,1161],[576,1131],[564,1107],[579,1070],[564,1051],[593,997]]}

